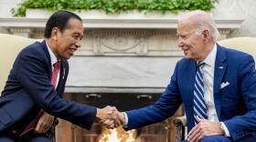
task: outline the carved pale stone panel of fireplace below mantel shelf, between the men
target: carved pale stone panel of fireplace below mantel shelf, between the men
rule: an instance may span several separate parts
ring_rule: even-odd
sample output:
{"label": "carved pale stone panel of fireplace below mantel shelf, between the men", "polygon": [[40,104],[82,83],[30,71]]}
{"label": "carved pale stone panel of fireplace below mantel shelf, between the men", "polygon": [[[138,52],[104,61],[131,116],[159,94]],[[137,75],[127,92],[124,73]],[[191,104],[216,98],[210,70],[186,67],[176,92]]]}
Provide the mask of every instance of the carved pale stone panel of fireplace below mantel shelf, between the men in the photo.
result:
{"label": "carved pale stone panel of fireplace below mantel shelf, between the men", "polygon": [[[174,30],[91,29],[77,56],[182,56]],[[91,36],[91,38],[87,38]],[[175,53],[175,54],[172,54]],[[178,53],[178,54],[177,54]]]}

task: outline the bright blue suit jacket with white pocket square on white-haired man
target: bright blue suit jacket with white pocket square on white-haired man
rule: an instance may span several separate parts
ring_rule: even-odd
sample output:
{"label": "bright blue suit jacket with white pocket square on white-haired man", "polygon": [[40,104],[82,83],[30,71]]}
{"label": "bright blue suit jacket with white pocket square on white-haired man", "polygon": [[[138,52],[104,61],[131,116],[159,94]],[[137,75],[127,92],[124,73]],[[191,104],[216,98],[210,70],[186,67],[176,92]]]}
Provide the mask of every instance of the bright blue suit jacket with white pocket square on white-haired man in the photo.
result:
{"label": "bright blue suit jacket with white pocket square on white-haired man", "polygon": [[[163,121],[184,103],[189,132],[194,127],[196,70],[196,61],[186,58],[178,61],[170,84],[155,105],[126,112],[125,129]],[[229,86],[220,88],[223,82],[229,82]],[[256,72],[252,56],[217,45],[213,92],[219,121],[229,128],[233,140],[256,134]]]}

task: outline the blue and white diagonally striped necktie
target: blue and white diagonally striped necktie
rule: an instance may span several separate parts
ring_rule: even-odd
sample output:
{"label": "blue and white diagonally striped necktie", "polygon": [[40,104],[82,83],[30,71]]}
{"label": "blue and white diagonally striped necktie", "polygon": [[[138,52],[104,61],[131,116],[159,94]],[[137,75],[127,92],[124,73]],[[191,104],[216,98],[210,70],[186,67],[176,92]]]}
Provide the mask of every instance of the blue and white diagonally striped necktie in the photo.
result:
{"label": "blue and white diagonally striped necktie", "polygon": [[202,67],[205,63],[201,62],[197,67],[197,75],[194,88],[194,117],[195,125],[197,125],[197,116],[203,119],[207,119],[207,107],[204,99],[204,80]]}

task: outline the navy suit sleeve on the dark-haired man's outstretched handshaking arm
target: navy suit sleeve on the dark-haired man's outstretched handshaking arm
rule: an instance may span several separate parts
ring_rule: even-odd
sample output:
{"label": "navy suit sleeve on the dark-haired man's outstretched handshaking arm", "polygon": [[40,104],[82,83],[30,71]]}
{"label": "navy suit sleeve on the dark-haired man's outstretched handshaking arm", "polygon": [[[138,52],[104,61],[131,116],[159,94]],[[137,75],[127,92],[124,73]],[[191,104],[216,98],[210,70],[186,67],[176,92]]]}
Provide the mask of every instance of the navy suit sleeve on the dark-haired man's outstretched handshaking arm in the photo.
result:
{"label": "navy suit sleeve on the dark-haired man's outstretched handshaking arm", "polygon": [[16,79],[37,106],[42,107],[50,115],[66,119],[80,127],[91,128],[96,117],[96,107],[59,97],[50,84],[45,56],[36,51],[23,51],[17,57],[15,67]]}

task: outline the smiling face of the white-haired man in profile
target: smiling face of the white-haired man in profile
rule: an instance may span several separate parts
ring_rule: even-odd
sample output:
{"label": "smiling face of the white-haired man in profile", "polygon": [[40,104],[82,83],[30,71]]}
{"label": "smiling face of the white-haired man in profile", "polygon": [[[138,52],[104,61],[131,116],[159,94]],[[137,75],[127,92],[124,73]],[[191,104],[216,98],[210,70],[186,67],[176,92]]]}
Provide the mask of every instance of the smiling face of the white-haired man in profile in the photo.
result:
{"label": "smiling face of the white-haired man in profile", "polygon": [[184,19],[177,25],[178,46],[186,58],[197,61],[204,60],[204,35],[197,33],[193,20]]}

